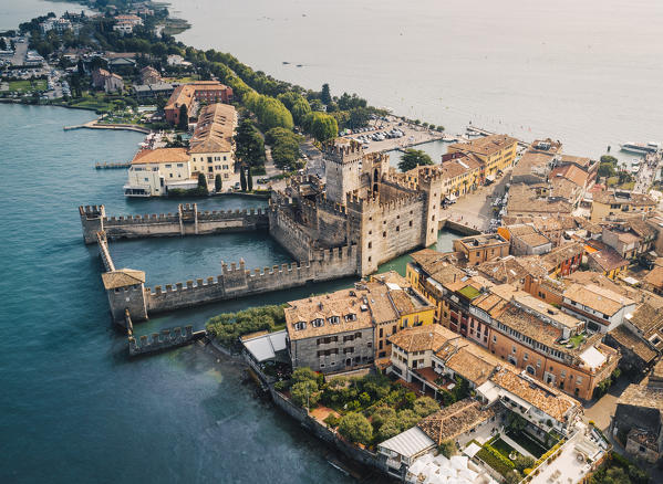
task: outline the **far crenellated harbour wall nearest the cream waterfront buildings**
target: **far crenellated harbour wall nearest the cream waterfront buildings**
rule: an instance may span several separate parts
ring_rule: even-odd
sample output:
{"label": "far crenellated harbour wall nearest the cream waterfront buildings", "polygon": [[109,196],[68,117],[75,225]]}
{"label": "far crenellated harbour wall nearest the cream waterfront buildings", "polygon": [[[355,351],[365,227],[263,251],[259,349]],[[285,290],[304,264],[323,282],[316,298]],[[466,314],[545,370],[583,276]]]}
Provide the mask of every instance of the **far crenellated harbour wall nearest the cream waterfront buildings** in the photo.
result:
{"label": "far crenellated harbour wall nearest the cream waterfront buildings", "polygon": [[179,204],[177,213],[106,217],[104,206],[79,208],[85,243],[94,243],[90,234],[104,230],[108,239],[203,235],[221,232],[267,229],[267,210],[198,211],[196,203]]}

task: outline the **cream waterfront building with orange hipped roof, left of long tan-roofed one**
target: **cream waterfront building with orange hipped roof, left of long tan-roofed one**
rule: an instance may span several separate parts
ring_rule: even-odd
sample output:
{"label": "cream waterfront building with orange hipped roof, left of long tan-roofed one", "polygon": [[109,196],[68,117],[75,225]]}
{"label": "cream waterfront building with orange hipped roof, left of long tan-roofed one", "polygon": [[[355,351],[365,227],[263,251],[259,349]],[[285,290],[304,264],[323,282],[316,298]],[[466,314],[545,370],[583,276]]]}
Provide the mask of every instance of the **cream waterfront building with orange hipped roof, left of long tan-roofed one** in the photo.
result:
{"label": "cream waterfront building with orange hipped roof, left of long tan-roofed one", "polygon": [[193,178],[189,155],[185,148],[157,148],[138,151],[131,162],[124,186],[127,197],[160,197],[170,189],[191,189],[198,186]]}

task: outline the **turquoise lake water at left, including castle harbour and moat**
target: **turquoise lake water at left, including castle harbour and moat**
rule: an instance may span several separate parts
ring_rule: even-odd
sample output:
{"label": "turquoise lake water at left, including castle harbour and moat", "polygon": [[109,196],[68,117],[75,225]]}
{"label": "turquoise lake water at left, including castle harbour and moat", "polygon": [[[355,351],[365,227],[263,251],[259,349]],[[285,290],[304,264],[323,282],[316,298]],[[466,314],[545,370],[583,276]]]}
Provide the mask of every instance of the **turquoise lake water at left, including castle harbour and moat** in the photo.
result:
{"label": "turquoise lake water at left, including castle harbour and moat", "polygon": [[[244,370],[197,347],[130,360],[112,327],[96,249],[81,235],[79,204],[110,214],[174,211],[177,201],[122,194],[141,135],[62,126],[91,113],[0,105],[0,482],[351,482],[330,450],[255,398]],[[204,209],[262,204],[241,198]],[[441,234],[447,248],[453,236]],[[118,266],[148,282],[214,275],[220,261],[265,266],[290,260],[260,233],[111,242]],[[405,259],[394,262],[403,269]],[[391,267],[386,267],[391,269]],[[352,284],[318,284],[155,317],[137,334],[194,324],[220,312],[280,303]]]}

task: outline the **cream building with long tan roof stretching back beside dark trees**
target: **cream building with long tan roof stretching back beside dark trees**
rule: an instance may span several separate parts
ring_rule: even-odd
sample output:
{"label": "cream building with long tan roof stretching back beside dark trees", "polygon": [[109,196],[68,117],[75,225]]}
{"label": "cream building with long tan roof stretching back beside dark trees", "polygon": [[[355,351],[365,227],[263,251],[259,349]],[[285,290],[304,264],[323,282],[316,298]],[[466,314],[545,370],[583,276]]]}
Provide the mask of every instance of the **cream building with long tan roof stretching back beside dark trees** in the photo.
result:
{"label": "cream building with long tan roof stretching back beside dark trees", "polygon": [[189,140],[189,164],[194,176],[205,173],[208,186],[214,186],[217,175],[228,181],[235,173],[236,126],[237,112],[229,104],[210,104],[198,114]]}

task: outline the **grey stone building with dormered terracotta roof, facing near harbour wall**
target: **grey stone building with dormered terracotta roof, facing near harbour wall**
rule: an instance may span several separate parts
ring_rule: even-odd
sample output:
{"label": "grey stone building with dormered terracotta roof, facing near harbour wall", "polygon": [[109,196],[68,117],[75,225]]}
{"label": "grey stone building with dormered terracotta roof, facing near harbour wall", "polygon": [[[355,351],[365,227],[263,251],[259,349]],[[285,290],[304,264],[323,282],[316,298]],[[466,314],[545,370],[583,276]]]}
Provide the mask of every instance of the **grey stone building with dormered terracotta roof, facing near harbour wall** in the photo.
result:
{"label": "grey stone building with dormered terracotta roof, facing near harbour wall", "polygon": [[284,313],[292,368],[328,373],[373,362],[373,323],[365,291],[292,301]]}

